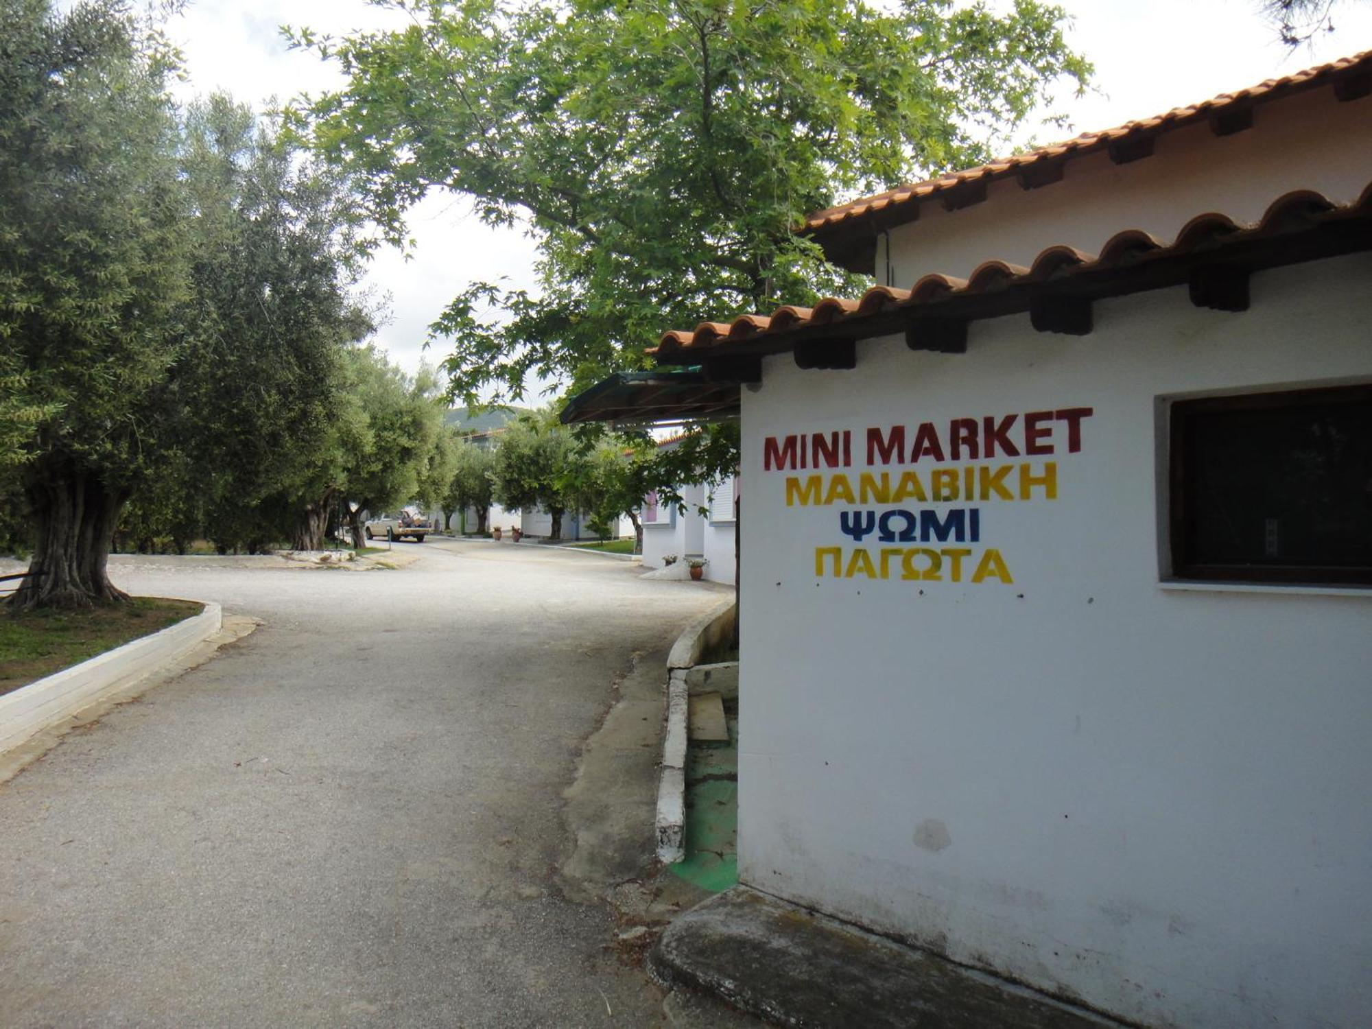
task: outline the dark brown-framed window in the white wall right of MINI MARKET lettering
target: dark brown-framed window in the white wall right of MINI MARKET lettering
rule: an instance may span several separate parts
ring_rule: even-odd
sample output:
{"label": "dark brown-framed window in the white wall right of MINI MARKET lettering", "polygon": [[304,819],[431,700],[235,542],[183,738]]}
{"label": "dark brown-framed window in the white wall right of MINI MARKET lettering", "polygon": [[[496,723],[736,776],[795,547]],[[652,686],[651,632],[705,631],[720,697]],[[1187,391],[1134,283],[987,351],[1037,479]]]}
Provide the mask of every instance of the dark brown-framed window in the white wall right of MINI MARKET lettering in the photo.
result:
{"label": "dark brown-framed window in the white wall right of MINI MARKET lettering", "polygon": [[1179,579],[1372,586],[1372,386],[1172,405]]}

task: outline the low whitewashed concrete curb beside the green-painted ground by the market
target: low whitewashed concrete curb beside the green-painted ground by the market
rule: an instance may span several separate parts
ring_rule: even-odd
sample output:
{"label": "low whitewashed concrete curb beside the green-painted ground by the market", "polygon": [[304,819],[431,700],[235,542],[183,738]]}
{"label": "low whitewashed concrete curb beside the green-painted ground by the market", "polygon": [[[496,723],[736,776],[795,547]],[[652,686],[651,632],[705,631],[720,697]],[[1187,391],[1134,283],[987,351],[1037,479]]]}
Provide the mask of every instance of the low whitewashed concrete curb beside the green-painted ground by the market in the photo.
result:
{"label": "low whitewashed concrete curb beside the green-painted ground by the market", "polygon": [[667,659],[667,735],[663,741],[663,772],[657,782],[657,814],[653,833],[657,858],[674,864],[686,856],[686,734],[689,711],[687,668],[700,660],[705,648],[719,642],[734,628],[734,601],[720,604],[697,619],[676,642]]}

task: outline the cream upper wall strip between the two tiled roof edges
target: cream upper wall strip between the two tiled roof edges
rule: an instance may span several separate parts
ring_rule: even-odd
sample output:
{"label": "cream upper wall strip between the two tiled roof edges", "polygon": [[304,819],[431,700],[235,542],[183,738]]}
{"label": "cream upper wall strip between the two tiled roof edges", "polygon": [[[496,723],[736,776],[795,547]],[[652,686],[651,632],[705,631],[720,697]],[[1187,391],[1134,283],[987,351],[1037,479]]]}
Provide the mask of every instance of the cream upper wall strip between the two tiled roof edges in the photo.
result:
{"label": "cream upper wall strip between the two tiled roof edges", "polygon": [[[925,203],[918,221],[890,232],[892,284],[910,288],[932,272],[967,277],[993,258],[1029,265],[1059,243],[1098,254],[1131,228],[1172,243],[1198,214],[1251,222],[1297,189],[1351,203],[1372,181],[1369,121],[1372,97],[1339,103],[1325,86],[1259,106],[1254,126],[1232,136],[1216,137],[1200,122],[1165,133],[1152,156],[1126,165],[1099,152],[1067,162],[1062,181],[1037,189],[1002,180],[963,210]],[[879,250],[877,263],[885,281]]]}

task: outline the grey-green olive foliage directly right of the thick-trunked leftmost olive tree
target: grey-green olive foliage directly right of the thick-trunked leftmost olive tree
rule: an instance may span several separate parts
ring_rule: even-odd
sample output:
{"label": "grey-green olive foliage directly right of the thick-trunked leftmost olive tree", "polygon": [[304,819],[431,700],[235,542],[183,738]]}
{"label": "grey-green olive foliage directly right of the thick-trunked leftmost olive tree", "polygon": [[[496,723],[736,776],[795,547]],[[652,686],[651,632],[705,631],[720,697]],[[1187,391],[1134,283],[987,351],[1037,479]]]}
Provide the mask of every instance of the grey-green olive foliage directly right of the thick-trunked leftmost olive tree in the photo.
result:
{"label": "grey-green olive foliage directly right of the thick-trunked leftmost olive tree", "polygon": [[192,291],[166,402],[170,464],[192,473],[172,513],[200,498],[224,546],[289,535],[369,439],[348,353],[372,331],[353,294],[354,210],[346,180],[303,158],[226,96],[185,114]]}

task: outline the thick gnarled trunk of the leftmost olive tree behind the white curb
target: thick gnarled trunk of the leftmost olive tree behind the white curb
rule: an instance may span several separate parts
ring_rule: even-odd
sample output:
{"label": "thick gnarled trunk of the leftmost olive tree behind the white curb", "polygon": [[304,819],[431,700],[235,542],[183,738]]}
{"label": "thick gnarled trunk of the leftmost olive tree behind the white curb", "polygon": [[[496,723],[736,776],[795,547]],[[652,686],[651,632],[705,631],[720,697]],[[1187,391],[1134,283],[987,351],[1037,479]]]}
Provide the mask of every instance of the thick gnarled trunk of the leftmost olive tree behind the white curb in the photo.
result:
{"label": "thick gnarled trunk of the leftmost olive tree behind the white curb", "polygon": [[25,475],[37,530],[29,572],[10,606],[93,608],[129,600],[107,564],[126,494],[60,456],[38,458]]}

